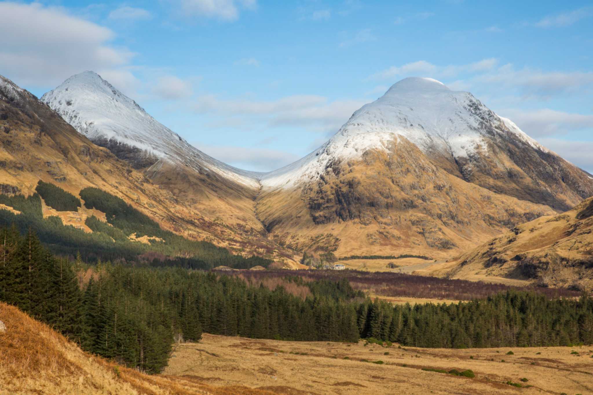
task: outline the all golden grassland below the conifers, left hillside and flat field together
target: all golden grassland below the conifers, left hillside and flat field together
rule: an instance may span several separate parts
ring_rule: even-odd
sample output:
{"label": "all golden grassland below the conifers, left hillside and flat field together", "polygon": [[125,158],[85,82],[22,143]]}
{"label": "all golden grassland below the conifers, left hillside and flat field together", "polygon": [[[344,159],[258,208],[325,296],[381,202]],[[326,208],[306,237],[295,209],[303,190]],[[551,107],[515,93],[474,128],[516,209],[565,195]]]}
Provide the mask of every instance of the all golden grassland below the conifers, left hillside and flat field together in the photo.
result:
{"label": "all golden grassland below the conifers, left hillside and flat field together", "polygon": [[[513,394],[518,384],[585,394],[593,388],[592,346],[419,349],[205,335],[200,343],[176,345],[163,375],[146,375],[81,351],[16,307],[0,303],[0,318],[7,327],[0,332],[0,393]],[[474,377],[439,372],[451,370],[471,370]]]}

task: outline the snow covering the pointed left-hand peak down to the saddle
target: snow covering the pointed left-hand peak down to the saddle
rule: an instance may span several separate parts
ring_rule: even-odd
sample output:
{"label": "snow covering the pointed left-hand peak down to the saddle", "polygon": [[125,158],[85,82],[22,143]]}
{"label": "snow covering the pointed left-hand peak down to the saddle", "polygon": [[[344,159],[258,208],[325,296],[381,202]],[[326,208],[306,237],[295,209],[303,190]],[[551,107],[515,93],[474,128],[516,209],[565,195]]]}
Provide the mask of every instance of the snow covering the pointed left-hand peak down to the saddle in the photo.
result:
{"label": "snow covering the pointed left-hand peak down to the saddle", "polygon": [[74,75],[41,99],[90,140],[113,139],[161,160],[259,187],[259,174],[234,168],[196,149],[97,73]]}

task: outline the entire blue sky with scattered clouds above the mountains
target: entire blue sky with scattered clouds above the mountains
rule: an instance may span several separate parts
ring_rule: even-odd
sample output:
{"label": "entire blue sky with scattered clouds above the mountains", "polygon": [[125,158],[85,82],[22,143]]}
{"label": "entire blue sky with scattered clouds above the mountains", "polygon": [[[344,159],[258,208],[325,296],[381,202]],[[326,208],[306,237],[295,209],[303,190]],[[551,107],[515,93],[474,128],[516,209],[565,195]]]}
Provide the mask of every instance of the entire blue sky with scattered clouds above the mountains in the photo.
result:
{"label": "entire blue sky with scattered clouds above the mountains", "polygon": [[240,168],[299,159],[389,86],[429,76],[593,172],[590,1],[42,1],[0,15],[1,75],[41,96],[94,70]]}

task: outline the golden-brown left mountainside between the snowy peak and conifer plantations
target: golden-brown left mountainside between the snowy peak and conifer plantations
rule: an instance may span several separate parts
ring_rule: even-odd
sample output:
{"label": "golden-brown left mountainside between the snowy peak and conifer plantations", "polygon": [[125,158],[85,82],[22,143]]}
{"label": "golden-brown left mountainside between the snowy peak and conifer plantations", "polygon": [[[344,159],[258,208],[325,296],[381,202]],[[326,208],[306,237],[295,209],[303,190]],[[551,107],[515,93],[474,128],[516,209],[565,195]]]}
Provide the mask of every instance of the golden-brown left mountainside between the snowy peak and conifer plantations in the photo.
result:
{"label": "golden-brown left mountainside between the snowy peak and conifer plantations", "polygon": [[[0,80],[12,84],[2,76]],[[179,235],[243,255],[291,261],[293,252],[268,240],[254,216],[256,191],[216,176],[188,172],[162,165],[159,171],[144,174],[79,134],[29,92],[0,89],[3,193],[32,194],[39,180],[53,182],[75,196],[82,188],[96,187],[122,198]],[[84,226],[87,214],[95,213],[79,210],[59,216],[64,223],[90,232]]]}

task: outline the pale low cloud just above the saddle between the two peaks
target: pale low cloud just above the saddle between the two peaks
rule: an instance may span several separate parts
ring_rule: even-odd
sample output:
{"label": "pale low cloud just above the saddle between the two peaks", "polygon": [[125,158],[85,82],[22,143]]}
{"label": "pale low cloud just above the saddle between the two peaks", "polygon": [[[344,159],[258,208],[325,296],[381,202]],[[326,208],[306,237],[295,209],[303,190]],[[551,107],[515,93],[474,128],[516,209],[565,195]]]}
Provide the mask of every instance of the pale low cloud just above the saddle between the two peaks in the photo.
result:
{"label": "pale low cloud just above the saddle between the two peaks", "polygon": [[274,149],[200,143],[193,145],[213,158],[250,171],[272,171],[300,159],[293,153]]}

